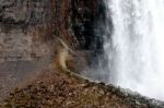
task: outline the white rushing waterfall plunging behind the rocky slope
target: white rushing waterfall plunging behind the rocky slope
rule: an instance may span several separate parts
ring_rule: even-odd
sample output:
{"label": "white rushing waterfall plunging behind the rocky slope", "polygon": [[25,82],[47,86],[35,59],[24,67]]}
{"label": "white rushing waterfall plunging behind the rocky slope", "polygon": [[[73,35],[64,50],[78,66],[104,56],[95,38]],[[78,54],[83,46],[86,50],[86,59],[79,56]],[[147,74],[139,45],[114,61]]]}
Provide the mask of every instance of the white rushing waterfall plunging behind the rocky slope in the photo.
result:
{"label": "white rushing waterfall plunging behind the rocky slope", "polygon": [[105,0],[108,82],[164,100],[164,0]]}

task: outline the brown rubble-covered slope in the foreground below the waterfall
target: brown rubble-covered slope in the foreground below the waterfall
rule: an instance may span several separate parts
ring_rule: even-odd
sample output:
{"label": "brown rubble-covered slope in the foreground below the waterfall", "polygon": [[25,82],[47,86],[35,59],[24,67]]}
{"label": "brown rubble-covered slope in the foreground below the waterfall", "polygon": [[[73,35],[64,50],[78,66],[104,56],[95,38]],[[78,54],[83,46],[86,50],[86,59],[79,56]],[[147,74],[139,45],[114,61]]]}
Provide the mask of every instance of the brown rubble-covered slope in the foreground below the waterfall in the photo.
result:
{"label": "brown rubble-covered slope in the foreground below the waterfall", "polygon": [[1,108],[164,108],[164,103],[137,93],[94,83],[63,70],[47,69],[13,89]]}

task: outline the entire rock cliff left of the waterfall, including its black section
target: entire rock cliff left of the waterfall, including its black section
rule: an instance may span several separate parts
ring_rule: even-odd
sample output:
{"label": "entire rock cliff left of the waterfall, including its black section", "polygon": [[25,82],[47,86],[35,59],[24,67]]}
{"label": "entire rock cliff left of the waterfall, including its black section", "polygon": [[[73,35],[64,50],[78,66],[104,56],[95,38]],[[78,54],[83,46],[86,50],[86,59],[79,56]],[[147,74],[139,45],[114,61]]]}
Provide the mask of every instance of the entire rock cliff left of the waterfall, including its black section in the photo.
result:
{"label": "entire rock cliff left of the waterfall, including its black section", "polygon": [[101,52],[102,10],[102,0],[0,0],[0,93],[50,64],[65,47],[86,61]]}

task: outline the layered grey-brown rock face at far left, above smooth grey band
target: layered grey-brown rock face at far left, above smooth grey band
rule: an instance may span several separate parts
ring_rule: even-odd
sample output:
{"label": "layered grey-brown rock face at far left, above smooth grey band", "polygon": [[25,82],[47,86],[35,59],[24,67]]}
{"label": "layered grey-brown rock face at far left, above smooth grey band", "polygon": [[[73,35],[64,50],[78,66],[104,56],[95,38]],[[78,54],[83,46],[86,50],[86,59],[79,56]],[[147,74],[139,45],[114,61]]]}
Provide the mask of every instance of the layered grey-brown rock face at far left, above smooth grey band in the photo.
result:
{"label": "layered grey-brown rock face at far left, above smooth grey band", "polygon": [[1,61],[32,60],[42,57],[46,46],[39,44],[39,27],[46,26],[47,0],[0,1]]}

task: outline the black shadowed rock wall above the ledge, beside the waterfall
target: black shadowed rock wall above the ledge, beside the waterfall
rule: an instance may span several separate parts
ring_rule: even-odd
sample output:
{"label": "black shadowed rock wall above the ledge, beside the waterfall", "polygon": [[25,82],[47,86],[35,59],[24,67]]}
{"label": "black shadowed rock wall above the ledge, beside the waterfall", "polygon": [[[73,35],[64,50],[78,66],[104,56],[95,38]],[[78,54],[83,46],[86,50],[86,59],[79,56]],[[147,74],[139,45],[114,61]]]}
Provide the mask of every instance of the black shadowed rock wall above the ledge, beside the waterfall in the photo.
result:
{"label": "black shadowed rock wall above the ledge, beside the waterfall", "polygon": [[105,19],[104,11],[102,0],[72,0],[71,27],[79,44],[74,47],[81,50],[102,50],[103,34],[101,36],[96,32],[103,31],[101,24]]}

